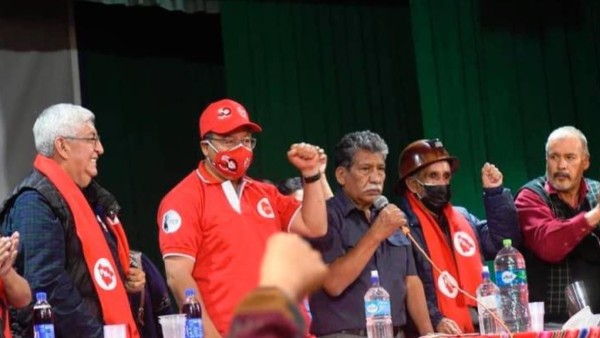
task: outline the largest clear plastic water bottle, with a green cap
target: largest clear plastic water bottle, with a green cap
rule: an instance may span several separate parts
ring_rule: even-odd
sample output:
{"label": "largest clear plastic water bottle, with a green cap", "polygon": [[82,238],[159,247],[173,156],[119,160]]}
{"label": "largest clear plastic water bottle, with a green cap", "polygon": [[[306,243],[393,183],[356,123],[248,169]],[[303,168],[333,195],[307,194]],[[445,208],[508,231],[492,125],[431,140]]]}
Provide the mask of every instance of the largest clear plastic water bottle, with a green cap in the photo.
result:
{"label": "largest clear plastic water bottle, with a green cap", "polygon": [[500,289],[502,318],[512,333],[529,331],[529,290],[523,255],[505,239],[496,259],[496,284]]}

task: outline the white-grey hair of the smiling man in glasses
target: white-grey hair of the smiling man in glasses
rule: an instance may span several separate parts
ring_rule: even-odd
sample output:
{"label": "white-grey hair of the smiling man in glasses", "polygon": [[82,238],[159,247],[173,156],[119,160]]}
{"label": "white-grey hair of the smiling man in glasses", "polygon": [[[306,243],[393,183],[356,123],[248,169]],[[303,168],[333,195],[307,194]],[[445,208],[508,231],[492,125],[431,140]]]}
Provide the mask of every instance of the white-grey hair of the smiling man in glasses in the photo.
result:
{"label": "white-grey hair of the smiling man in glasses", "polygon": [[57,137],[75,136],[88,122],[94,123],[94,113],[81,106],[59,103],[44,109],[33,124],[35,149],[44,156],[52,156]]}

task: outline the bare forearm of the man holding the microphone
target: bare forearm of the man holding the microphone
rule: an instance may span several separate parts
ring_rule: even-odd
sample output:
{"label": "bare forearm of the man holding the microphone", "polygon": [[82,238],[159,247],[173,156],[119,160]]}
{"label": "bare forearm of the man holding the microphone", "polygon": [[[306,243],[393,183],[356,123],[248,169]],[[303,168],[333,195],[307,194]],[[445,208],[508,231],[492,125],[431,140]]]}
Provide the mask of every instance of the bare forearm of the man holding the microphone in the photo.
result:
{"label": "bare forearm of the man holding the microphone", "polygon": [[378,246],[378,240],[365,234],[352,250],[331,263],[323,285],[325,291],[332,296],[344,292],[364,270]]}

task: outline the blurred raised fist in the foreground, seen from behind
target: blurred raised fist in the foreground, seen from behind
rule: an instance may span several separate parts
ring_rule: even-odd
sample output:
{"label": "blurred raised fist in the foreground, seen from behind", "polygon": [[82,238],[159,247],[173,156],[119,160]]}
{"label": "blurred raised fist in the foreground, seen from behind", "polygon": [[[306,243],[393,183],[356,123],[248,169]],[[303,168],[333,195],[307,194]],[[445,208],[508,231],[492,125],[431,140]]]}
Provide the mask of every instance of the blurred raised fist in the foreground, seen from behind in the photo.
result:
{"label": "blurred raised fist in the foreground, seen from behind", "polygon": [[276,287],[299,301],[321,286],[327,266],[300,236],[278,233],[267,241],[260,269],[261,287]]}

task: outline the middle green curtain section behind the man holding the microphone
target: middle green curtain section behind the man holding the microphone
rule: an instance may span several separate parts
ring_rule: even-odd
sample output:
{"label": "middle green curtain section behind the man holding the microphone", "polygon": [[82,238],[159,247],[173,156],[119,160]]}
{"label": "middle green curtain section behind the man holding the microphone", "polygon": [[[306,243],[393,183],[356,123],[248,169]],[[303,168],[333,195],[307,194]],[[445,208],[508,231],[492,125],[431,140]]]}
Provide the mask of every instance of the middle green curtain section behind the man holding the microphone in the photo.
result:
{"label": "middle green curtain section behind the man holding the microphone", "polygon": [[227,93],[264,129],[254,176],[297,175],[293,142],[333,155],[344,134],[370,129],[390,146],[391,186],[401,147],[422,135],[409,14],[400,1],[221,3]]}

